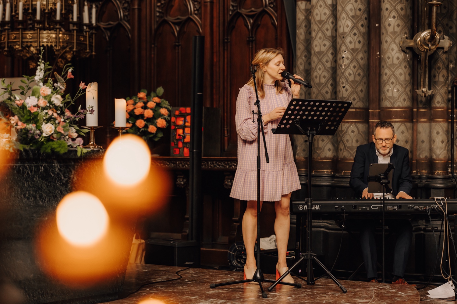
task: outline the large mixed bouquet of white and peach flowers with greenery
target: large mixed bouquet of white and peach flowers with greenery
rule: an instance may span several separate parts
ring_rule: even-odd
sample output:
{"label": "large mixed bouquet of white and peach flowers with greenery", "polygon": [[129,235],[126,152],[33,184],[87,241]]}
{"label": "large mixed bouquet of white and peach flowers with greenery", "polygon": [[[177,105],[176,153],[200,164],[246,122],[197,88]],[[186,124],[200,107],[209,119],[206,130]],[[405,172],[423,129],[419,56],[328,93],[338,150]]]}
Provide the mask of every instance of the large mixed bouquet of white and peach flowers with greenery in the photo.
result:
{"label": "large mixed bouquet of white and peach flowers with greenery", "polygon": [[[86,88],[81,82],[74,98],[70,94],[63,97],[65,82],[74,78],[72,71],[69,64],[65,65],[62,76],[54,72],[56,82],[53,83],[49,77],[53,71],[49,63],[43,62],[42,50],[36,75],[21,79],[23,85],[19,86],[20,94],[13,92],[12,84],[5,84],[5,79],[1,80],[5,91],[0,96],[7,96],[0,102],[0,120],[16,131],[11,134],[17,149],[35,148],[42,153],[62,154],[70,147],[77,148],[78,156],[87,151],[82,148],[83,139],[78,135],[84,136],[88,130],[81,130],[77,121],[84,118],[85,114],[93,113],[93,109],[81,110],[80,106],[75,114],[68,110]],[[37,85],[31,87],[33,81]],[[2,109],[6,109],[5,113]]]}

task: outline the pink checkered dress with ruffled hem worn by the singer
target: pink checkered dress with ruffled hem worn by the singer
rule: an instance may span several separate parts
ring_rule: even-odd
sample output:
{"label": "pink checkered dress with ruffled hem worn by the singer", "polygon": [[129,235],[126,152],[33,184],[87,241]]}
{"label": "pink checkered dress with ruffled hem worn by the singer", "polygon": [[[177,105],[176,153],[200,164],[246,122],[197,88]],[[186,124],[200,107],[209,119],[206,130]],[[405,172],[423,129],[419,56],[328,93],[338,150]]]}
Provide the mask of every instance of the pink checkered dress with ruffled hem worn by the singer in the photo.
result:
{"label": "pink checkered dress with ruffled hem worn by the singer", "polygon": [[[264,84],[265,98],[260,100],[262,114],[277,107],[287,107],[292,99],[291,89],[284,85],[282,94],[276,94],[274,84]],[[254,88],[247,84],[239,89],[236,100],[235,124],[238,133],[238,168],[230,196],[235,199],[257,200],[257,116],[252,122],[252,110],[257,112]],[[260,138],[260,200],[274,202],[282,194],[301,189],[297,167],[293,161],[292,145],[287,134],[273,134],[280,119],[264,125],[266,147],[270,163],[265,161],[265,149]]]}

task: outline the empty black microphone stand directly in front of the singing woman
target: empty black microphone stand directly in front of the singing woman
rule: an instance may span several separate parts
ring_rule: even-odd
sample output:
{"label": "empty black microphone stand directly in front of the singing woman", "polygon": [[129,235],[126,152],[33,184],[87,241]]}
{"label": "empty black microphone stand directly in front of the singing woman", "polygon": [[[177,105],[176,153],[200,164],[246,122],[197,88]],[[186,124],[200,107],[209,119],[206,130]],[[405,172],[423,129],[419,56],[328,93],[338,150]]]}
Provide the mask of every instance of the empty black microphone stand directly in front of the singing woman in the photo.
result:
{"label": "empty black microphone stand directly in front of the singing woman", "polygon": [[[211,284],[209,285],[210,288],[216,288],[218,286],[226,286],[226,285],[232,285],[232,284],[239,284],[239,283],[249,283],[249,282],[256,282],[259,283],[260,291],[262,292],[262,298],[267,298],[268,295],[265,292],[265,289],[262,286],[262,282],[270,282],[270,283],[275,283],[275,280],[270,280],[266,279],[263,276],[262,271],[260,270],[260,130],[262,133],[262,138],[263,138],[263,147],[265,149],[265,160],[267,163],[270,162],[270,159],[268,158],[268,152],[266,149],[266,141],[265,141],[265,133],[263,132],[263,121],[262,121],[262,112],[260,110],[260,100],[259,100],[259,94],[257,92],[257,84],[255,82],[255,72],[256,72],[255,67],[250,67],[250,72],[252,73],[252,79],[254,80],[254,89],[255,89],[255,103],[254,105],[257,106],[257,113],[252,110],[252,122],[255,122],[254,120],[254,115],[257,115],[257,261],[256,261],[256,267],[257,269],[255,270],[254,276],[251,279],[247,280],[241,280],[241,281],[234,281],[234,282],[227,282],[227,283],[218,283],[218,284]],[[289,286],[294,286],[297,288],[302,287],[302,284],[300,283],[287,283],[287,282],[278,282],[280,284],[284,285],[289,285]]]}

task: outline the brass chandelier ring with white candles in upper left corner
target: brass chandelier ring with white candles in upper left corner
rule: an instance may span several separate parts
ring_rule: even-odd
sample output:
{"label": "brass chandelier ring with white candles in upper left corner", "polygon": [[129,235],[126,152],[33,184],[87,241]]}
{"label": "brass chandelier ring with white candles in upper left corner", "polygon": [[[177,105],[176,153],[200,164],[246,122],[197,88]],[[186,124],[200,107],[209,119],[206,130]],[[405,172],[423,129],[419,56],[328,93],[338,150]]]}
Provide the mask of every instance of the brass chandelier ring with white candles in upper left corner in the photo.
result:
{"label": "brass chandelier ring with white candles in upper left corner", "polygon": [[84,0],[0,0],[0,50],[7,56],[36,59],[44,46],[63,66],[95,54],[95,29],[96,5]]}

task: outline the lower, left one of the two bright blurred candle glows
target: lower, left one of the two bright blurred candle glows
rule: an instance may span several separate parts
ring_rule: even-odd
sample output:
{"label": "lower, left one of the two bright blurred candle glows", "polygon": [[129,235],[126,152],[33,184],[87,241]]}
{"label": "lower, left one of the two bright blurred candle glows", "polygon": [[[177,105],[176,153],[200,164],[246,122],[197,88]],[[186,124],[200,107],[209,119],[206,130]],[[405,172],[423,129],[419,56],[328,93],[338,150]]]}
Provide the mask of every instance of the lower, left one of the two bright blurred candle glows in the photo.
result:
{"label": "lower, left one of the two bright blurred candle glows", "polygon": [[65,195],[56,210],[57,229],[74,246],[91,246],[105,236],[108,213],[100,199],[85,191]]}

